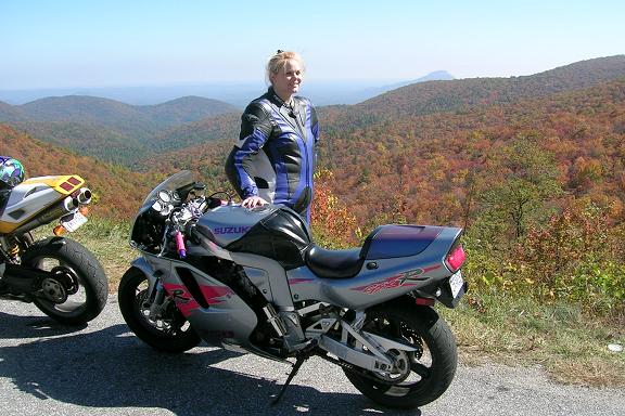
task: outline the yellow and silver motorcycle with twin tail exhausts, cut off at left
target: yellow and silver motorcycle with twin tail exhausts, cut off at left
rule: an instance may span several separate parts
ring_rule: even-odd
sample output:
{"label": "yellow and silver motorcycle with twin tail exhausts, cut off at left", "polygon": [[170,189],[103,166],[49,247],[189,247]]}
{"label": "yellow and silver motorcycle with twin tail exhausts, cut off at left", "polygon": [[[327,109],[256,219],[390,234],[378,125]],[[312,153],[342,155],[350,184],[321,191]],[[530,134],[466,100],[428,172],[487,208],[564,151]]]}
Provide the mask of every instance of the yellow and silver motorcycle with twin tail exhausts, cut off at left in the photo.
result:
{"label": "yellow and silver motorcycle with twin tail exhausts, cut off at left", "polygon": [[[106,303],[100,262],[79,243],[62,237],[87,222],[91,191],[77,174],[30,178],[0,190],[0,299],[33,302],[67,325],[93,320]],[[51,236],[31,231],[59,221]]]}

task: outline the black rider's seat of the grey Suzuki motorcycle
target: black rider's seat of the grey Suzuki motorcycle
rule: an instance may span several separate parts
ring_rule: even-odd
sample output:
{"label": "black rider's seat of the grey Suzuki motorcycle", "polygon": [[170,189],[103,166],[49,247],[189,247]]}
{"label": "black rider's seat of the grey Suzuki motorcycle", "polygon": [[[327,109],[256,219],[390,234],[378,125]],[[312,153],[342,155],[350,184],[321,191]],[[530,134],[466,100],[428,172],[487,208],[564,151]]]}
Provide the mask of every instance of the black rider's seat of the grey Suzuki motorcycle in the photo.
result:
{"label": "black rider's seat of the grey Suzuki motorcycle", "polygon": [[327,250],[311,245],[306,250],[306,265],[319,277],[349,278],[362,269],[365,259],[360,257],[360,248],[345,250]]}

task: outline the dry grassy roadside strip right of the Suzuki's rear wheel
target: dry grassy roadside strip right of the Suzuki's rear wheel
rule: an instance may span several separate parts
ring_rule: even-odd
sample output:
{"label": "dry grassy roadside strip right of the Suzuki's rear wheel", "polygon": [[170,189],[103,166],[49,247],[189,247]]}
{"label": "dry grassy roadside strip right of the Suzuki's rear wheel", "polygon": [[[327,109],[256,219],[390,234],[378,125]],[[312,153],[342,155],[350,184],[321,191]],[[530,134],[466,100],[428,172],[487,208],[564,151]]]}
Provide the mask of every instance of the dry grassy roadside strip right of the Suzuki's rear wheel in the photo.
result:
{"label": "dry grassy roadside strip right of the Suzuki's rear wheel", "polygon": [[456,310],[438,309],[467,364],[541,365],[557,381],[625,387],[625,316],[594,316],[569,303],[470,294]]}

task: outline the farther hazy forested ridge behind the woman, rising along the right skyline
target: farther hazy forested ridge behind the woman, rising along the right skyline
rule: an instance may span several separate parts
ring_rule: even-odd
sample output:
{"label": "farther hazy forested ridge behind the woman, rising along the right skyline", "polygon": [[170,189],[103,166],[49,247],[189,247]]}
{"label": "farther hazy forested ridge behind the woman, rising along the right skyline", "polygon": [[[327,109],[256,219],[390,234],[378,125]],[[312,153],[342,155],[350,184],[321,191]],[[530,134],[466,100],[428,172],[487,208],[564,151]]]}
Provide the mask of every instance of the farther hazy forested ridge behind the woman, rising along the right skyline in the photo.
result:
{"label": "farther hazy forested ridge behind the woman, rising along the right skyline", "polygon": [[[377,122],[441,112],[471,112],[557,92],[573,91],[625,77],[625,55],[584,61],[545,73],[513,78],[475,78],[413,83],[355,105],[318,107],[322,133],[342,134]],[[229,122],[230,121],[230,122]],[[237,138],[240,120],[233,114],[206,118],[158,134],[158,141],[186,145]],[[162,147],[167,148],[167,147]]]}

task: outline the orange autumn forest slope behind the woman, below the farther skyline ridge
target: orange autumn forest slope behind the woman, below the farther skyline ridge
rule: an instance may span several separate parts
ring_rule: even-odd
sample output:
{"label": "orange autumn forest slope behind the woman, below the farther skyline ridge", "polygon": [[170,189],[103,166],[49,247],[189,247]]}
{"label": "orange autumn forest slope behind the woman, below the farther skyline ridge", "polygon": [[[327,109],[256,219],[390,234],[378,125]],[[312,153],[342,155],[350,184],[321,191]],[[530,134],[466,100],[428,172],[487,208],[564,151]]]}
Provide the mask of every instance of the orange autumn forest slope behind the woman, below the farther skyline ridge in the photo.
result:
{"label": "orange autumn forest slope behind the woman, below the farther skyline ridge", "polygon": [[[624,134],[625,78],[506,105],[334,126],[323,129],[318,161],[333,173],[327,184],[365,227],[398,219],[471,223],[476,195],[513,174],[506,164],[514,152],[518,158],[524,152],[548,156],[545,169],[554,169],[560,190],[553,207],[560,196],[585,196],[624,216]],[[214,187],[226,186],[231,146],[229,140],[206,142],[161,154],[152,166],[164,173],[190,168]]]}

